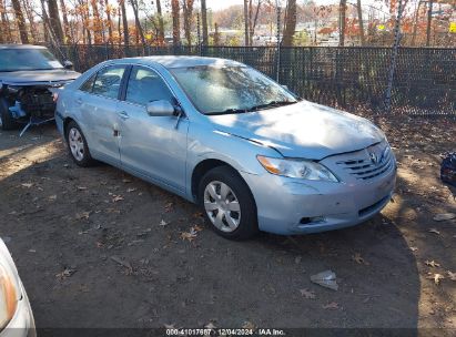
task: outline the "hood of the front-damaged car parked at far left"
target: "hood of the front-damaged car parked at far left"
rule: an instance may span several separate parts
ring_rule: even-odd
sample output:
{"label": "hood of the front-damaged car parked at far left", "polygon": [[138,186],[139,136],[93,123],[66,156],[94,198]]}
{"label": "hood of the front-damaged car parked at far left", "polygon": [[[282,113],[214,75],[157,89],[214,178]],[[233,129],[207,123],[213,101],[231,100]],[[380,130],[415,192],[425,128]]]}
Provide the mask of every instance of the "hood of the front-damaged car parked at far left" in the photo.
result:
{"label": "hood of the front-damaged car parked at far left", "polygon": [[0,72],[0,82],[9,85],[58,84],[79,78],[80,73],[71,70],[27,70]]}

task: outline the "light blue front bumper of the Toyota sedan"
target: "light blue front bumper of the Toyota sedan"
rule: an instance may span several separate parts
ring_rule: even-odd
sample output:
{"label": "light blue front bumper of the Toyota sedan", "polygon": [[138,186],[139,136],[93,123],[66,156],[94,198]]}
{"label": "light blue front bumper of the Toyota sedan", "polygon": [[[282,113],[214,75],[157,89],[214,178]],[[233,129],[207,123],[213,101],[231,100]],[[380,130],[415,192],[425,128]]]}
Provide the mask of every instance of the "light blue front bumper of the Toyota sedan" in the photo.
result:
{"label": "light blue front bumper of the Toyota sedan", "polygon": [[257,207],[261,231],[293,235],[353,226],[389,202],[396,165],[371,182],[310,182],[264,173],[242,173]]}

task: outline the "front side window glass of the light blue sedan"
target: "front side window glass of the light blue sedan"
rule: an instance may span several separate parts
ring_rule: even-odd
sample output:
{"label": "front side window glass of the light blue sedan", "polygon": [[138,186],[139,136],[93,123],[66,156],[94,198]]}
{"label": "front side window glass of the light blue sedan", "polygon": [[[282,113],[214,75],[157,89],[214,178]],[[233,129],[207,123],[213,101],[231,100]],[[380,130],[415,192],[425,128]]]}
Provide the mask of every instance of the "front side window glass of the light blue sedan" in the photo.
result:
{"label": "front side window glass of the light blue sedan", "polygon": [[151,101],[173,102],[173,94],[156,72],[143,67],[133,67],[126,86],[125,101],[146,105]]}

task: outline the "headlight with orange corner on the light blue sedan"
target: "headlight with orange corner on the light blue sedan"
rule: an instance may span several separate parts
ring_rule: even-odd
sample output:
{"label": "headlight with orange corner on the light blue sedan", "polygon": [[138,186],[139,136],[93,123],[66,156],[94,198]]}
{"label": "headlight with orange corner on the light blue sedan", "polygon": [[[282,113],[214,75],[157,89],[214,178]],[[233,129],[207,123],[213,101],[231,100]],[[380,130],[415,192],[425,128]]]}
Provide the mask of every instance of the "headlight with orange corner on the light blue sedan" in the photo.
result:
{"label": "headlight with orange corner on the light blue sedan", "polygon": [[330,170],[312,161],[274,159],[263,155],[257,155],[256,159],[272,174],[310,181],[338,182]]}

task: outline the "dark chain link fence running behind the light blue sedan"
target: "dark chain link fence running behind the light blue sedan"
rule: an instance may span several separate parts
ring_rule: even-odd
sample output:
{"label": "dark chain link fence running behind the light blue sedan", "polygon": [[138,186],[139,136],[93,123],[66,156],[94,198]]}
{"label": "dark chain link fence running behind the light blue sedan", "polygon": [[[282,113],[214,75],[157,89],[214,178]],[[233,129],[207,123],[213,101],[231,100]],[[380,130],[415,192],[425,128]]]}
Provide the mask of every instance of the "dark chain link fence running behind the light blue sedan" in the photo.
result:
{"label": "dark chain link fence running behind the light blue sedan", "polygon": [[[78,71],[125,57],[203,55],[252,65],[310,101],[385,113],[391,48],[368,47],[141,47],[62,45],[55,55]],[[278,64],[278,62],[280,64]],[[399,48],[391,113],[456,116],[456,49]],[[278,71],[277,71],[278,67]]]}

